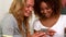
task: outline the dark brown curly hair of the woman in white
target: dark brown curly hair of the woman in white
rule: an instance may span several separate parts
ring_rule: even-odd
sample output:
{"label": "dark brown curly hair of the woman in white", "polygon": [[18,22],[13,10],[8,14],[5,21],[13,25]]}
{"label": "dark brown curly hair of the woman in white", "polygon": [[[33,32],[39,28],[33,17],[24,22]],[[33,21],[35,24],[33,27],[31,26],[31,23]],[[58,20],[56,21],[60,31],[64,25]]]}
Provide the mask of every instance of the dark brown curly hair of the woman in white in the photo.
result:
{"label": "dark brown curly hair of the woman in white", "polygon": [[53,10],[54,15],[58,14],[62,9],[61,0],[34,0],[34,13],[40,17],[42,16],[40,7],[42,2],[45,2]]}

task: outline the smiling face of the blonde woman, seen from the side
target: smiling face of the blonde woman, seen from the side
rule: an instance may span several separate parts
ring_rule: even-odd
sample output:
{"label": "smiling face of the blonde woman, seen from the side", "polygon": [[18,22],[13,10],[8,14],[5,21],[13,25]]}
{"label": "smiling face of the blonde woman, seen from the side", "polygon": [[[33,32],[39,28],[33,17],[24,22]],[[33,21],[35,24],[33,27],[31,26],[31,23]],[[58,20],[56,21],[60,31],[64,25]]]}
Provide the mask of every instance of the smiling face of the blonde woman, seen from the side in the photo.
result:
{"label": "smiling face of the blonde woman, seen from the side", "polygon": [[26,0],[26,3],[25,3],[25,12],[24,12],[24,15],[25,16],[30,16],[32,14],[32,11],[33,11],[33,0]]}

